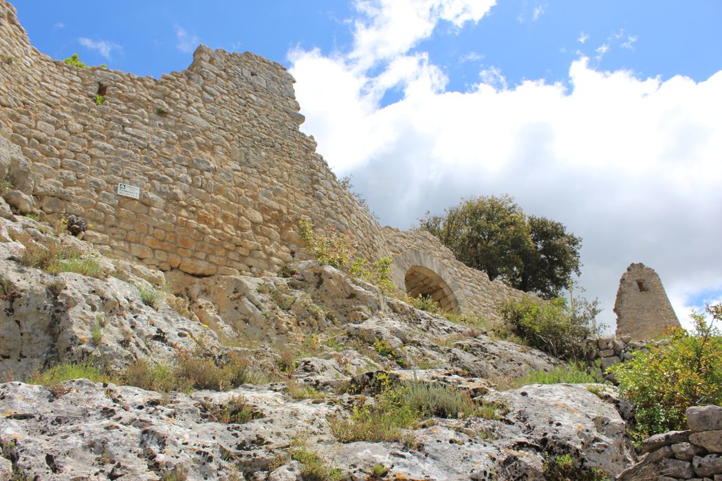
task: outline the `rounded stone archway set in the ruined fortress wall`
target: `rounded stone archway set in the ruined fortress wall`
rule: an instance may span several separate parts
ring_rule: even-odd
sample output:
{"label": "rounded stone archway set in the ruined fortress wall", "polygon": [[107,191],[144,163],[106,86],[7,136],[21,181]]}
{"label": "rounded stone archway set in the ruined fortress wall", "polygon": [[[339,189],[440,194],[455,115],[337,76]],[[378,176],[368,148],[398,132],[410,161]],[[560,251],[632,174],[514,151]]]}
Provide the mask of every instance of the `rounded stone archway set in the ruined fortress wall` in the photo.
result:
{"label": "rounded stone archway set in the ruined fortress wall", "polygon": [[442,262],[428,252],[410,250],[393,260],[393,280],[396,286],[412,297],[429,296],[441,309],[461,312],[464,298]]}

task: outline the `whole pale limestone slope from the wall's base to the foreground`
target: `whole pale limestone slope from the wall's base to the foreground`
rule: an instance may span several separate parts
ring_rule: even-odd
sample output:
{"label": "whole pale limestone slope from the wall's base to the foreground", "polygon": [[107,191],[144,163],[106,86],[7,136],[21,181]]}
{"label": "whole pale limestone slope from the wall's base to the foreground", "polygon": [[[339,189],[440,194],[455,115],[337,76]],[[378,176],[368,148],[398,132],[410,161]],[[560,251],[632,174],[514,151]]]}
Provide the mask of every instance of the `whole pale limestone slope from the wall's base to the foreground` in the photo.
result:
{"label": "whole pale limestone slope from the wall's base to the foreground", "polygon": [[[496,339],[483,324],[419,311],[318,262],[296,262],[280,277],[164,276],[93,252],[62,229],[4,216],[0,477],[300,480],[313,479],[313,458],[339,469],[329,479],[535,480],[564,454],[580,472],[609,476],[632,463],[630,412],[614,388],[501,390],[559,361]],[[25,265],[28,248],[53,242],[95,259],[101,273]],[[177,296],[149,302],[162,288]],[[219,365],[241,356],[256,384],[186,393],[121,385],[134,361],[170,366],[181,353]],[[110,382],[20,382],[68,362],[92,363]],[[494,403],[496,415],[429,417],[394,442],[334,436],[334,420],[404,379],[461,390],[477,405]]]}

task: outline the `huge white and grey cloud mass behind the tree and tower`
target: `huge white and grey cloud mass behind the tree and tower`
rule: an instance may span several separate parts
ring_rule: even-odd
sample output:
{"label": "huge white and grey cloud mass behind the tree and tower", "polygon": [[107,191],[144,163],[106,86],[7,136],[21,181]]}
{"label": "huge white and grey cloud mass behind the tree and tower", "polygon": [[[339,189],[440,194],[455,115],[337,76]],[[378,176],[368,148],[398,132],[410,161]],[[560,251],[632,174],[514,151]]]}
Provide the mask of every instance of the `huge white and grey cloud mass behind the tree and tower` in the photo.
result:
{"label": "huge white and grey cloud mass behind the tree and tower", "polygon": [[[290,53],[302,128],[339,175],[354,176],[382,223],[408,228],[461,197],[509,193],[583,238],[580,283],[612,327],[631,262],[659,273],[681,320],[700,292],[722,292],[722,71],[662,81],[581,57],[565,84],[510,87],[488,67],[469,91],[452,92],[425,53],[411,52],[445,19],[445,3],[466,12],[461,1],[404,14],[360,2],[353,50]],[[453,18],[463,27],[484,12]],[[404,47],[383,39],[412,14],[421,20],[398,33]],[[382,107],[392,89],[401,100]]]}

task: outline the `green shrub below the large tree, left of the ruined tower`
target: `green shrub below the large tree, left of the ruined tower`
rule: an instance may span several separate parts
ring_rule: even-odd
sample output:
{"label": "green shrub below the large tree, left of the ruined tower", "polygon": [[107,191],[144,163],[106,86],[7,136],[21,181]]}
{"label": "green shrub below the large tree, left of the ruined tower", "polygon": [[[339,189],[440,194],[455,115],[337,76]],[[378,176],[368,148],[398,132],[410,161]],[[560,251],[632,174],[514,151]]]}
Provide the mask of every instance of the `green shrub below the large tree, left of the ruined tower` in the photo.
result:
{"label": "green shrub below the large tree, left of the ruined tower", "polygon": [[599,335],[603,327],[594,322],[599,314],[597,301],[574,301],[570,306],[565,299],[535,301],[525,297],[503,304],[500,312],[510,330],[532,348],[566,360],[585,360],[588,338]]}

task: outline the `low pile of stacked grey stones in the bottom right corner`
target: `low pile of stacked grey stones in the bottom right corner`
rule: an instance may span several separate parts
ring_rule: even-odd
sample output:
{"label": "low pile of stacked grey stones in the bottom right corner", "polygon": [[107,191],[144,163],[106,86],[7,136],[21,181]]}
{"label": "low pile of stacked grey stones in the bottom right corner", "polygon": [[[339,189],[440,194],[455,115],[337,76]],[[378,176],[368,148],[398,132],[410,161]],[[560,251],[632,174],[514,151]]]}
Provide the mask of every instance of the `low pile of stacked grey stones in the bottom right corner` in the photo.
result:
{"label": "low pile of stacked grey stones in the bottom right corner", "polygon": [[643,441],[643,456],[619,481],[722,480],[722,407],[695,406],[686,414],[689,430]]}

